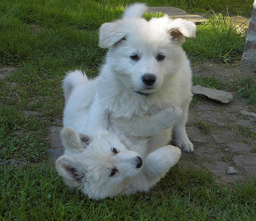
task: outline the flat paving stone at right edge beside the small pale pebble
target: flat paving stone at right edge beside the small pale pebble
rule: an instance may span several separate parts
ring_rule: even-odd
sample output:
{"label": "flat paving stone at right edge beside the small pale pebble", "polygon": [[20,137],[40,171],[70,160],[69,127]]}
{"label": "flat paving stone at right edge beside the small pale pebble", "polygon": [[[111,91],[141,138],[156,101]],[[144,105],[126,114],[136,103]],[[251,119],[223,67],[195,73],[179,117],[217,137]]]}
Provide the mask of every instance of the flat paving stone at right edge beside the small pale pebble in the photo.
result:
{"label": "flat paving stone at right edge beside the small pale pebble", "polygon": [[246,172],[256,175],[256,154],[245,154],[234,156],[232,158],[234,164],[243,168]]}

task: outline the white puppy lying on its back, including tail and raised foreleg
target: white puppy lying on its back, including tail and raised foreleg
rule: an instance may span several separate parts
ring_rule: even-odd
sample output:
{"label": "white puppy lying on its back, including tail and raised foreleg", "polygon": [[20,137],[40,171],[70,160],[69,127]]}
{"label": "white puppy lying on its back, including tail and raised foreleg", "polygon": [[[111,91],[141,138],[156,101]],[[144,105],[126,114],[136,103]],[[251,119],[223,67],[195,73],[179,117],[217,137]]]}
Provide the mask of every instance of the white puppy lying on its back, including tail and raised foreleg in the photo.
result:
{"label": "white puppy lying on its back, including tail and raised foreleg", "polygon": [[[151,116],[132,117],[127,122],[115,120],[109,124],[109,131],[94,133],[90,131],[89,119],[95,111],[92,106],[97,86],[97,79],[90,81],[81,71],[69,72],[63,81],[66,127],[60,136],[65,153],[56,161],[56,169],[68,186],[80,189],[93,199],[148,191],[178,162],[180,149],[167,145],[150,152],[147,137],[131,139],[119,131],[119,126],[127,133],[140,132],[146,136],[167,128],[166,119],[176,122],[182,111],[166,108]],[[140,168],[137,168],[138,157],[143,159]],[[113,169],[117,172],[110,177]]]}

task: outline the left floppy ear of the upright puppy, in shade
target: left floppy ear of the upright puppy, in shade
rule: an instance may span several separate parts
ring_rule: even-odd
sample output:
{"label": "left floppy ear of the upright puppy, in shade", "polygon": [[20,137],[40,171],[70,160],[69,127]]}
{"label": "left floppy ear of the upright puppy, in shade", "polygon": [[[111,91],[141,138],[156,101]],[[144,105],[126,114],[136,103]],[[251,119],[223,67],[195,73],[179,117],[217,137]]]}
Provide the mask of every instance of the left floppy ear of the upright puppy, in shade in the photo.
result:
{"label": "left floppy ear of the upright puppy, in shade", "polygon": [[116,42],[122,40],[126,32],[122,27],[122,21],[116,20],[113,22],[104,23],[100,27],[99,46],[100,48],[109,48]]}

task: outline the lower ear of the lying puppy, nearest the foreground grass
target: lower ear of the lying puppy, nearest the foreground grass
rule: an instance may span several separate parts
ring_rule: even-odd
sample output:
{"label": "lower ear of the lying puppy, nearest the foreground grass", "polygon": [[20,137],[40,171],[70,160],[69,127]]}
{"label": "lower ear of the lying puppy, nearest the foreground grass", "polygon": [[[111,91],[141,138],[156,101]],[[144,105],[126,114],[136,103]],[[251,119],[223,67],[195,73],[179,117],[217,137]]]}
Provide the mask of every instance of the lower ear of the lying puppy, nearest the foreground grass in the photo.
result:
{"label": "lower ear of the lying puppy, nearest the foreground grass", "polygon": [[60,156],[56,163],[56,170],[70,187],[79,187],[86,182],[85,168],[70,156]]}

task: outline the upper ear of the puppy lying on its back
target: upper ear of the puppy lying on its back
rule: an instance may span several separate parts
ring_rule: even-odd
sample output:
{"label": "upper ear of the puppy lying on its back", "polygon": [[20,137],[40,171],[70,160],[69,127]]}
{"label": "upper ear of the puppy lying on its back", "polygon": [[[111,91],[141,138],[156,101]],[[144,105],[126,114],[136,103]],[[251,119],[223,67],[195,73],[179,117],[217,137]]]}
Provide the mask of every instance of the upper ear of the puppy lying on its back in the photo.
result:
{"label": "upper ear of the puppy lying on its back", "polygon": [[65,148],[79,152],[83,152],[84,144],[90,142],[90,137],[83,133],[77,133],[70,127],[63,127],[60,131],[60,139]]}

